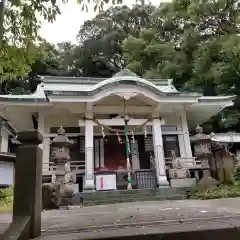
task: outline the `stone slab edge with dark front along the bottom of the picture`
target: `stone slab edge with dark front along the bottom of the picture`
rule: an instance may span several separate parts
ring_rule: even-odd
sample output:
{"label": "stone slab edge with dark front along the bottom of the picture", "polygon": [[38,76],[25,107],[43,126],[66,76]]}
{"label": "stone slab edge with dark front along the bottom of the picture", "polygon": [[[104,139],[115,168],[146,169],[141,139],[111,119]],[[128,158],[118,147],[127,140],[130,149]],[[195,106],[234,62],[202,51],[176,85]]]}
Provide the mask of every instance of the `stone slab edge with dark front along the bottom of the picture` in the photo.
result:
{"label": "stone slab edge with dark front along the bottom of the picture", "polygon": [[[234,226],[239,226],[240,219],[231,221]],[[105,240],[239,240],[239,230],[226,222],[219,220],[194,222],[194,223],[176,223],[169,225],[137,226],[125,228],[111,228],[108,230],[94,229],[92,231],[72,232],[57,235],[45,235],[39,240],[81,240],[81,239],[105,239]]]}

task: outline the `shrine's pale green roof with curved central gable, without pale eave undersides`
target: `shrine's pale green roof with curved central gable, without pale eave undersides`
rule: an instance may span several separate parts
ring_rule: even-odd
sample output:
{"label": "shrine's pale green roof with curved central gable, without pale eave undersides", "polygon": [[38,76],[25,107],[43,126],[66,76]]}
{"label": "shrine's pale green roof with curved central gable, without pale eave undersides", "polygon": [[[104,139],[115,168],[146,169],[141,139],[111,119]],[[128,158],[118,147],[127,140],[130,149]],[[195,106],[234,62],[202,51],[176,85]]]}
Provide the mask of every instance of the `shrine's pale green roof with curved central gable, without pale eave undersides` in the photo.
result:
{"label": "shrine's pale green roof with curved central gable, without pale eave undersides", "polygon": [[[124,69],[111,78],[59,77],[45,76],[36,91],[29,95],[0,95],[0,102],[47,104],[50,97],[90,97],[117,86],[141,87],[154,96],[193,99],[196,103],[232,101],[234,96],[203,97],[198,93],[178,92],[171,79],[143,79]],[[220,99],[221,98],[221,99]],[[159,100],[160,101],[160,100]],[[188,101],[188,100],[186,100]]]}

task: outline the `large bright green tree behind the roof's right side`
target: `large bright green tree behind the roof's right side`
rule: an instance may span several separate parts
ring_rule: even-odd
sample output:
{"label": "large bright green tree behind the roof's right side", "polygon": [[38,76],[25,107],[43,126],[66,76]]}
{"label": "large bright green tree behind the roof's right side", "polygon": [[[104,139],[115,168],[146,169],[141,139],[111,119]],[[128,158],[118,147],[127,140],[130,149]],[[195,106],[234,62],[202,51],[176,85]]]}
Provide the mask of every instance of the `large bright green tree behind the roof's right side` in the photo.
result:
{"label": "large bright green tree behind the roof's right side", "polygon": [[[150,16],[151,28],[124,40],[127,67],[144,77],[173,78],[180,90],[239,95],[239,9],[237,0],[162,3]],[[240,130],[239,103],[208,130]]]}

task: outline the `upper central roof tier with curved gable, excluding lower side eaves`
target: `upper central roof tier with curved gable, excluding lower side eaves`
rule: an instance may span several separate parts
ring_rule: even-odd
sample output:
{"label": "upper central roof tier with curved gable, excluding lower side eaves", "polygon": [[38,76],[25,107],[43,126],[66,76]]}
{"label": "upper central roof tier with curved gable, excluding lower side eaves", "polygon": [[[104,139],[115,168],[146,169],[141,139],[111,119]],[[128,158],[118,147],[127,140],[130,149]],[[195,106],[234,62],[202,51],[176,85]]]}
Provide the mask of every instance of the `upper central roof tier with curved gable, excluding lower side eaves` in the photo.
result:
{"label": "upper central roof tier with curved gable, excluding lower side eaves", "polygon": [[47,95],[92,96],[120,84],[142,86],[157,95],[176,94],[178,91],[169,79],[143,79],[128,69],[111,78],[49,77],[43,79]]}

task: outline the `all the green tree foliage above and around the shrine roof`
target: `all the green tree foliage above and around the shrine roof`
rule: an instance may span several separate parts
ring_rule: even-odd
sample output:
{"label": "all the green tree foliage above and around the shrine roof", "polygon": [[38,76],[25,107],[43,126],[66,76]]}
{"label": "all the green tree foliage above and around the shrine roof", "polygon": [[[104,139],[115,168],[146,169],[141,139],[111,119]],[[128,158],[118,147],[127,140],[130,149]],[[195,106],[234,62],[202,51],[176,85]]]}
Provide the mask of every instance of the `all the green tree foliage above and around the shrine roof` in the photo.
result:
{"label": "all the green tree foliage above and around the shrine roof", "polygon": [[[41,5],[39,8],[36,8],[37,2]],[[111,6],[102,11],[103,4],[121,1],[80,0],[83,9],[87,10],[86,4],[89,7],[94,3],[95,10],[100,13],[80,26],[78,43],[53,46],[42,41],[36,47],[32,40],[38,37],[38,23],[34,20],[33,10],[45,12],[43,15],[49,21],[59,10],[54,1],[50,7],[54,11],[45,9],[42,1],[37,2],[27,7],[29,17],[25,22],[14,25],[13,22],[17,22],[14,20],[8,24],[15,28],[10,28],[10,34],[5,35],[8,37],[5,51],[9,49],[9,52],[4,60],[7,64],[0,64],[4,76],[8,76],[8,72],[28,73],[26,79],[33,83],[28,87],[31,91],[39,74],[109,77],[128,67],[145,78],[172,78],[181,91],[204,95],[236,94],[234,107],[211,119],[205,129],[240,131],[239,1],[173,0],[160,6],[138,1],[140,4],[132,8]],[[14,50],[9,44],[14,42],[13,29],[21,31],[16,35],[20,41]],[[28,35],[21,38],[25,36],[24,31]],[[12,58],[17,51],[17,58]],[[24,89],[25,85],[20,88]]]}

